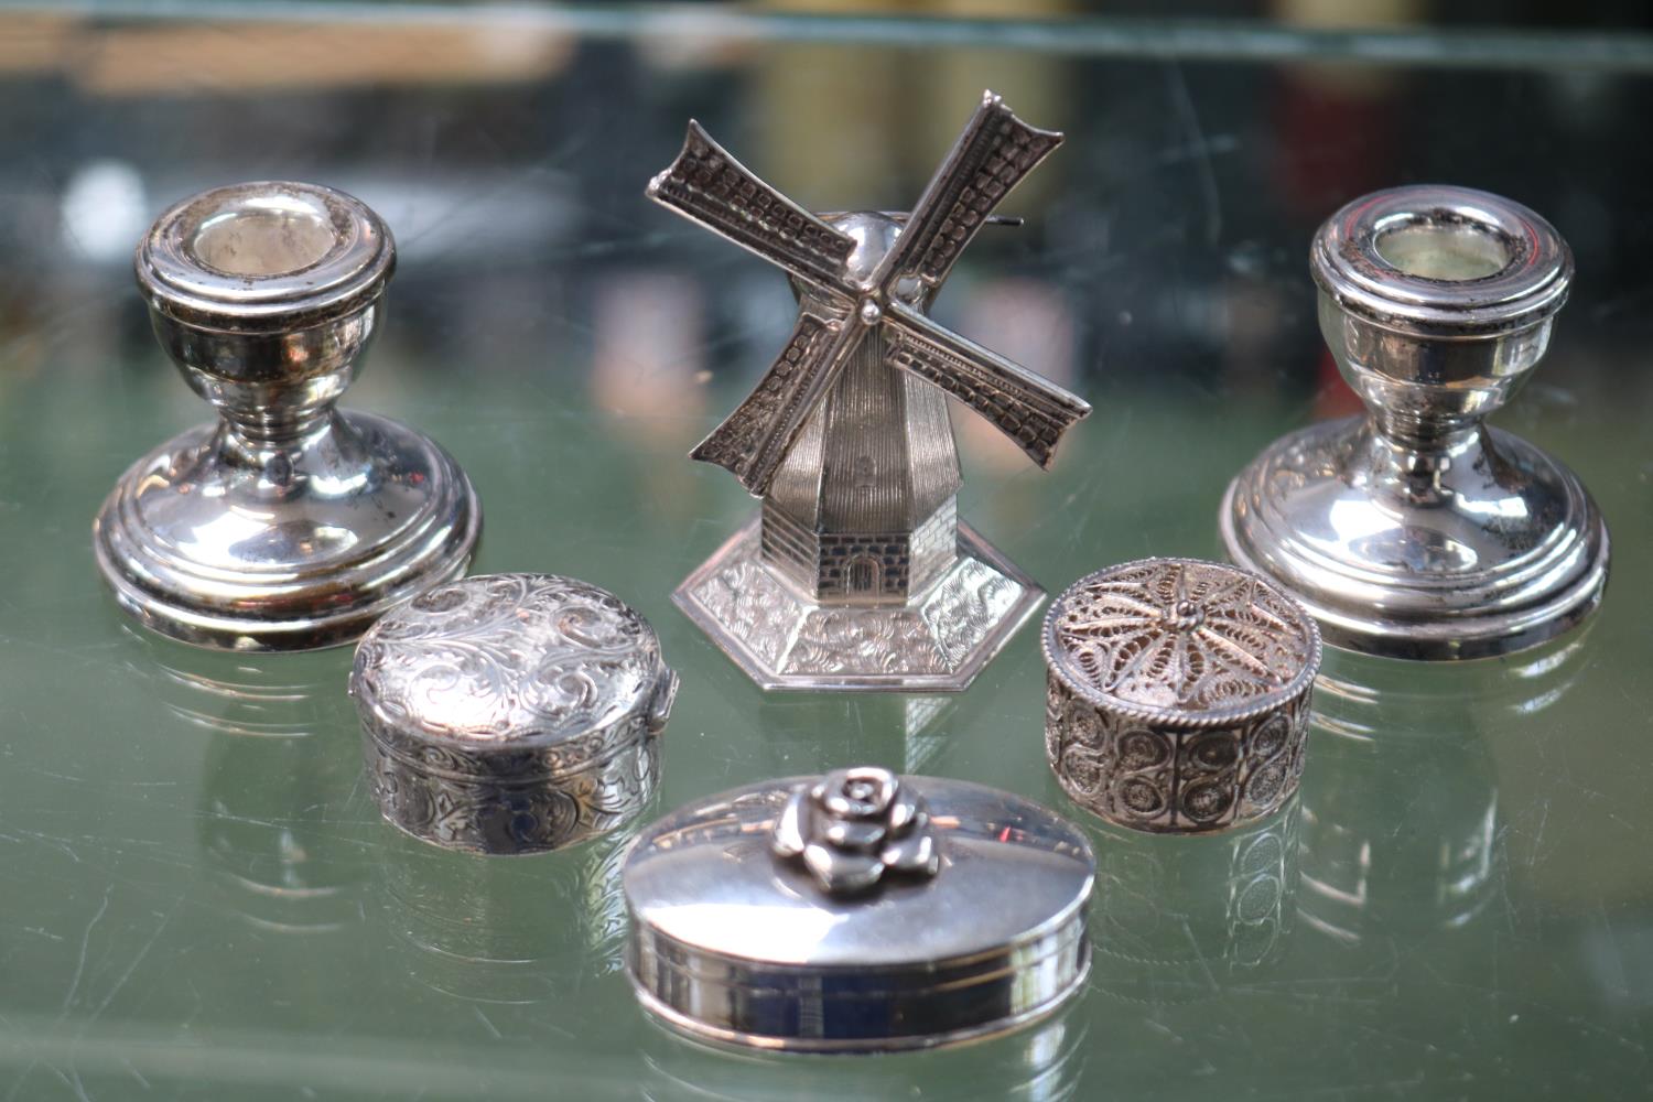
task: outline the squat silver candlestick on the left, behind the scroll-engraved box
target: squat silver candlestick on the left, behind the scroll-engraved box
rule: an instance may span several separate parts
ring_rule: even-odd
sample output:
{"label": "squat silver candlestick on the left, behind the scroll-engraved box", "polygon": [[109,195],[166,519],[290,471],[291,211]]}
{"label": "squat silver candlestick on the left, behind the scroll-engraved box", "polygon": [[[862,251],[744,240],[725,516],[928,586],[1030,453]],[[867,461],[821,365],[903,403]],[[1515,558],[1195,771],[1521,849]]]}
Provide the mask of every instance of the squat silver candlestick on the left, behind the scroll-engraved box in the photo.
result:
{"label": "squat silver candlestick on the left, behind the scroll-engraved box", "polygon": [[185,643],[306,649],[464,572],[481,527],[464,473],[334,408],[395,268],[374,211],[314,183],[215,188],[164,213],[136,268],[155,337],[220,420],[139,459],[93,524],[127,611]]}

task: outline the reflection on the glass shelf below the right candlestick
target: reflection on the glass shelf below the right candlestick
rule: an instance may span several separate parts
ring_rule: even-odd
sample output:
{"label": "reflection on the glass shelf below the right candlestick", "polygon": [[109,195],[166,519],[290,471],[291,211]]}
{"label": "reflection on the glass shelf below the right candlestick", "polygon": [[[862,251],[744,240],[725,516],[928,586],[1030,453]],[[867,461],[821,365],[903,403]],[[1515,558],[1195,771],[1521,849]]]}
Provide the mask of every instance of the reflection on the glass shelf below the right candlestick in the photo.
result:
{"label": "reflection on the glass shelf below the right candlestick", "polygon": [[1483,917],[1506,872],[1488,732],[1565,696],[1585,644],[1445,664],[1327,651],[1301,796],[1309,929],[1359,945]]}

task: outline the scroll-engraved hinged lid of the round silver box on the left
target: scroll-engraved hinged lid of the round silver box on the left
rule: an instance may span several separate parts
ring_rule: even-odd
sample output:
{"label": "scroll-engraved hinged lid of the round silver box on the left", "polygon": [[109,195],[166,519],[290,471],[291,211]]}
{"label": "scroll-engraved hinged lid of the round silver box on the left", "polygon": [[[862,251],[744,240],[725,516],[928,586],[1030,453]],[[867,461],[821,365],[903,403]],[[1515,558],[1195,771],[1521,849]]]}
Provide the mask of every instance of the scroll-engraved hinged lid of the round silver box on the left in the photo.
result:
{"label": "scroll-engraved hinged lid of the round silver box on the left", "polygon": [[375,739],[460,775],[584,770],[628,720],[658,730],[674,689],[636,611],[532,573],[461,578],[403,605],[362,639],[350,676]]}

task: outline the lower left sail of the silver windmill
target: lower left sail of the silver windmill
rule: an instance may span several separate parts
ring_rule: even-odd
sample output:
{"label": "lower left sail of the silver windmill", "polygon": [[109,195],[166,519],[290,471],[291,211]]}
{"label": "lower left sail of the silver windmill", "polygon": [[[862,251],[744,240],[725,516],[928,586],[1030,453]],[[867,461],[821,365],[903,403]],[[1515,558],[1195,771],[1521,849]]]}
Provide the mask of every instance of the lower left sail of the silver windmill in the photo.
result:
{"label": "lower left sail of the silver windmill", "polygon": [[694,446],[691,459],[727,469],[754,496],[769,489],[775,469],[803,430],[810,410],[833,385],[869,329],[805,311],[764,378],[722,425]]}

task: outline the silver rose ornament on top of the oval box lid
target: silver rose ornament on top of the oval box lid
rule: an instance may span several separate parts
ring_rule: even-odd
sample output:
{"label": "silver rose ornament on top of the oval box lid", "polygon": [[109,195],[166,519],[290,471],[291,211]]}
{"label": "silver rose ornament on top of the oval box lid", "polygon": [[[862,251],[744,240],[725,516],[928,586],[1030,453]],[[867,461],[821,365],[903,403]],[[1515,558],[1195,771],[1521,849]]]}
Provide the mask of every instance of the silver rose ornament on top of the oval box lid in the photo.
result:
{"label": "silver rose ornament on top of the oval box lid", "polygon": [[941,867],[924,800],[873,767],[800,785],[770,844],[777,857],[802,861],[831,895],[865,892],[889,872],[929,877]]}

